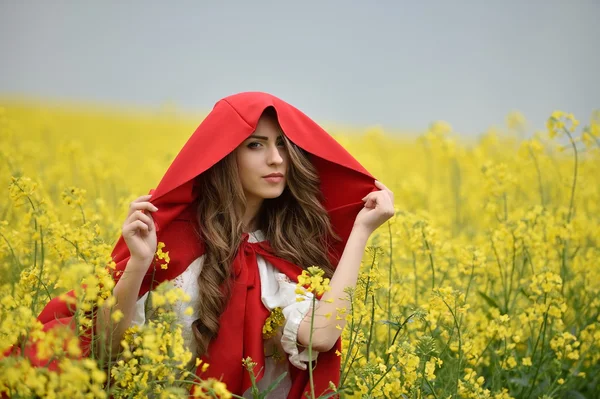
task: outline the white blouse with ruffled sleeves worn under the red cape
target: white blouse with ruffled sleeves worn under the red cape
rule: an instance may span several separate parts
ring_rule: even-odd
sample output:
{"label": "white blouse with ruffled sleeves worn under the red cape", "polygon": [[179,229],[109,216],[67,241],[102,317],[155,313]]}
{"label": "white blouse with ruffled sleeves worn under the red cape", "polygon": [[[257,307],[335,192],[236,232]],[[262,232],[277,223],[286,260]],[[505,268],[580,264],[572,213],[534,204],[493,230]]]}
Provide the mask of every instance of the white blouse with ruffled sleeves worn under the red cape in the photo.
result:
{"label": "white blouse with ruffled sleeves worn under the red cape", "polygon": [[[249,234],[248,242],[259,242],[264,241],[265,236],[261,230],[256,230]],[[263,391],[271,385],[273,381],[277,379],[283,372],[288,371],[288,364],[291,363],[295,367],[306,370],[308,363],[308,349],[298,347],[298,327],[300,322],[308,312],[310,304],[312,302],[312,294],[304,291],[304,301],[298,302],[296,298],[300,295],[296,294],[296,284],[292,282],[285,274],[279,273],[277,269],[267,262],[262,256],[257,254],[256,256],[258,263],[258,272],[260,274],[260,287],[261,287],[261,299],[262,303],[269,310],[273,310],[276,307],[280,307],[285,317],[285,324],[283,331],[279,331],[279,334],[269,340],[265,341],[265,374],[263,378],[258,382],[258,388]],[[179,323],[183,327],[183,340],[186,347],[192,352],[196,353],[196,341],[192,333],[192,323],[198,319],[198,276],[202,270],[202,263],[204,261],[204,255],[195,259],[187,269],[177,276],[173,283],[176,287],[184,290],[192,299],[190,302],[176,303],[174,311],[178,316]],[[146,300],[148,299],[148,293],[142,296],[136,304],[135,314],[133,316],[132,325],[142,325],[146,322],[146,319],[152,318],[152,313],[145,313]],[[191,315],[184,313],[185,309],[191,306],[194,312]],[[273,353],[282,354],[282,350],[287,353],[288,360],[282,361],[277,356],[273,356]],[[299,349],[302,349],[300,351]],[[312,360],[315,360],[318,356],[318,352],[312,351]],[[242,359],[240,359],[241,362]],[[192,359],[194,361],[194,359]],[[277,388],[271,392],[268,398],[282,398],[286,397],[291,388],[291,379],[288,375],[279,383]],[[245,398],[251,398],[250,388],[243,395]]]}

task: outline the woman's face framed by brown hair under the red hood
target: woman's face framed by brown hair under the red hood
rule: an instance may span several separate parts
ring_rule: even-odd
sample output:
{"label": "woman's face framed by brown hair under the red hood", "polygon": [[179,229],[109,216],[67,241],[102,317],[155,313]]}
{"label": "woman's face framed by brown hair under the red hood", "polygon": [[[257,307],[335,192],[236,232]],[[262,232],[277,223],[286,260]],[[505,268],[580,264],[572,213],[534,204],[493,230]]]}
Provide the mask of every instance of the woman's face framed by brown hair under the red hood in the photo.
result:
{"label": "woman's face framed by brown hair under the red hood", "polygon": [[263,115],[256,131],[235,150],[238,174],[249,202],[277,198],[285,189],[288,153],[282,133],[275,118]]}

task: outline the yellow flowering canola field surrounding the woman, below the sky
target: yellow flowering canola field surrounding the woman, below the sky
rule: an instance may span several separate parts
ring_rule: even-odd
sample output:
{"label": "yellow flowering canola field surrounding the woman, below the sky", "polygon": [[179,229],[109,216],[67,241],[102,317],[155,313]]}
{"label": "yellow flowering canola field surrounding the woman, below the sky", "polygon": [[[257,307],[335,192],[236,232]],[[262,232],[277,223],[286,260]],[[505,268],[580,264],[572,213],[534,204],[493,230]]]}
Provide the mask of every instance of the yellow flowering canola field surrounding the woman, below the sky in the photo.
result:
{"label": "yellow flowering canola field surrounding the woman, below the sky", "polygon": [[[186,298],[168,284],[153,302],[163,317],[128,331],[118,362],[81,358],[77,331],[86,311],[114,302],[107,266],[129,203],[158,184],[200,120],[0,107],[0,353],[13,350],[0,355],[1,394],[188,394],[191,354],[167,306]],[[340,310],[341,397],[600,397],[600,112],[555,111],[539,132],[514,113],[471,141],[445,122],[414,137],[330,132],[394,191],[397,211]],[[40,310],[73,288],[75,333],[42,331]],[[15,354],[28,340],[61,371]],[[197,397],[234,397],[218,381],[193,385]]]}

